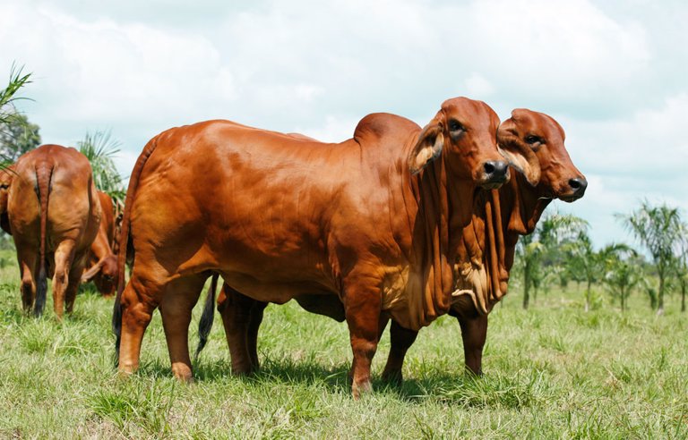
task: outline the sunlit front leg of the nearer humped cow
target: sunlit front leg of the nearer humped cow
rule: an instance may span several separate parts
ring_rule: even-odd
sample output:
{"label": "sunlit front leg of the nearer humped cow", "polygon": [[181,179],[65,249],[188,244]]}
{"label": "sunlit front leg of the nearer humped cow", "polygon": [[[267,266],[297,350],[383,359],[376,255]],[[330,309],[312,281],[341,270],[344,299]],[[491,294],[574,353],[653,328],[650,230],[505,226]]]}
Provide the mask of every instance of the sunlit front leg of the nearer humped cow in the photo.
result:
{"label": "sunlit front leg of the nearer humped cow", "polygon": [[351,365],[351,391],[354,399],[372,389],[370,364],[377,350],[382,301],[378,289],[349,287],[344,297],[344,311],[354,361]]}

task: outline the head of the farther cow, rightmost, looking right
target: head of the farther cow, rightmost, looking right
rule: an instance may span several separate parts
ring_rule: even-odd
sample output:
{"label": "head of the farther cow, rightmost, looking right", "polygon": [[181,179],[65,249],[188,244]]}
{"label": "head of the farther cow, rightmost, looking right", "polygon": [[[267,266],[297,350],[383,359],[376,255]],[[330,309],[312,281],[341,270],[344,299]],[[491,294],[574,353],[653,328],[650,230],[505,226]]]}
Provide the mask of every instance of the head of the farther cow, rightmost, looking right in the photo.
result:
{"label": "head of the farther cow, rightmost, looking right", "polygon": [[512,111],[497,131],[504,157],[536,188],[538,197],[572,202],[583,197],[588,181],[573,165],[564,138],[553,118],[524,108]]}

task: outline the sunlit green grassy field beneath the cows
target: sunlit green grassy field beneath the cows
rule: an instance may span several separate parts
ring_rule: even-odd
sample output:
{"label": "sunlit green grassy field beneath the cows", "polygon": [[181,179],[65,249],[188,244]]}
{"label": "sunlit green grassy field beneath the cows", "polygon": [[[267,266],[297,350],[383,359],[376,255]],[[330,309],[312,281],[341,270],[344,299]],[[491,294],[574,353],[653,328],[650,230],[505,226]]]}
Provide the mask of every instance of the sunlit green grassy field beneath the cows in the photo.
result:
{"label": "sunlit green grassy field beneath the cows", "polygon": [[140,372],[122,379],[112,300],[84,292],[62,324],[50,301],[46,317],[25,317],[13,253],[0,256],[0,438],[688,437],[688,316],[676,300],[664,317],[638,294],[624,315],[610,304],[585,313],[581,293],[550,292],[523,311],[512,292],[490,317],[485,377],[463,374],[460,328],[443,317],[409,351],[400,387],[379,380],[385,334],[374,393],[354,402],[344,324],[271,306],[262,371],[233,377],[216,322],[183,385],[156,315]]}

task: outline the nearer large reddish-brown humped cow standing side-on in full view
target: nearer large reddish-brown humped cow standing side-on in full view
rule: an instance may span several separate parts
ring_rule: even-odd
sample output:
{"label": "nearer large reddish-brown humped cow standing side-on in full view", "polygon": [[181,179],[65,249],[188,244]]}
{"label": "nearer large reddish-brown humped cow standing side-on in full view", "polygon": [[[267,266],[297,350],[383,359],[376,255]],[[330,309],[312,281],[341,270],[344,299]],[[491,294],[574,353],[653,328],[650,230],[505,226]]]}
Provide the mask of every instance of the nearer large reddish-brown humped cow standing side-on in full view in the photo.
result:
{"label": "nearer large reddish-brown humped cow standing side-on in full view", "polygon": [[138,368],[160,306],[172,371],[190,379],[191,310],[218,273],[263,302],[341,300],[357,396],[370,387],[383,314],[417,329],[449,310],[451,250],[471,219],[475,190],[507,179],[498,125],[485,103],[454,98],[423,129],[370,114],[339,144],[227,121],[159,134],[137,160],[126,196],[122,246],[131,230],[135,258],[125,288],[126,250],[118,255],[120,371]]}

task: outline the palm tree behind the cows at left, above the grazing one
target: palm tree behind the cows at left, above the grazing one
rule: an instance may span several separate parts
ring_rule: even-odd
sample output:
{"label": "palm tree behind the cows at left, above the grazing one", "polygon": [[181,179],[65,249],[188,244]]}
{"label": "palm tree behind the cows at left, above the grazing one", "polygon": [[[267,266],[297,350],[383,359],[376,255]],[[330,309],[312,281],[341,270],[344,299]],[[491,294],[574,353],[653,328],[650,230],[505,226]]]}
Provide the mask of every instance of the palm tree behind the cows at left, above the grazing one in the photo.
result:
{"label": "palm tree behind the cows at left, above the grazing one", "polygon": [[120,142],[113,140],[109,131],[86,133],[83,140],[77,142],[79,151],[90,161],[96,188],[116,201],[124,202],[125,187],[122,176],[117,172],[113,157],[119,152]]}

